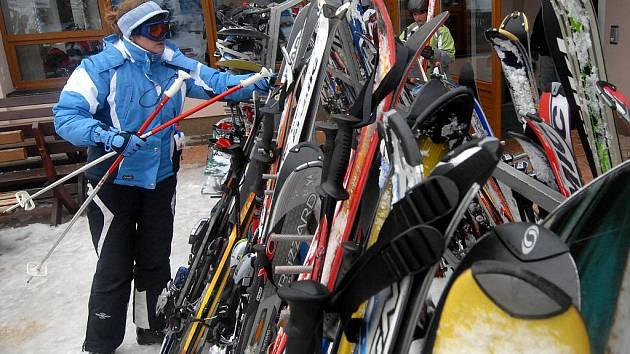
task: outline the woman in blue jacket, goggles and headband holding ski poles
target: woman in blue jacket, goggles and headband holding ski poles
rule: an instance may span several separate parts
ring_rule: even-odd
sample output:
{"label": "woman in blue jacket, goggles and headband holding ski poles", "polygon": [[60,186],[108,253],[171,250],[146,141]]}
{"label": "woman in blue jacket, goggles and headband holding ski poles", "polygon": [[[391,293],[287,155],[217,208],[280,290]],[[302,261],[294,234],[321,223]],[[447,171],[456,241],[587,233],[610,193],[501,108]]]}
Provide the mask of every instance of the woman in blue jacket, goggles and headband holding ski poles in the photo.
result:
{"label": "woman in blue jacket, goggles and headband holding ski poles", "polygon": [[[181,133],[171,127],[140,139],[133,133],[154,110],[163,92],[184,70],[184,82],[149,129],[177,116],[185,97],[208,99],[247,75],[229,75],[187,58],[170,41],[169,13],[153,1],[125,0],[109,14],[116,34],[101,53],[84,59],[54,107],[55,128],[64,139],[88,147],[92,161],[108,151],[125,156],[115,176],[88,208],[98,256],[92,281],[84,350],[111,353],[125,332],[134,281],[134,323],[139,344],[161,342],[164,318],[156,316],[158,295],[171,277],[169,257],[175,212]],[[241,101],[266,93],[261,80],[228,96]],[[90,185],[110,161],[87,171]]]}

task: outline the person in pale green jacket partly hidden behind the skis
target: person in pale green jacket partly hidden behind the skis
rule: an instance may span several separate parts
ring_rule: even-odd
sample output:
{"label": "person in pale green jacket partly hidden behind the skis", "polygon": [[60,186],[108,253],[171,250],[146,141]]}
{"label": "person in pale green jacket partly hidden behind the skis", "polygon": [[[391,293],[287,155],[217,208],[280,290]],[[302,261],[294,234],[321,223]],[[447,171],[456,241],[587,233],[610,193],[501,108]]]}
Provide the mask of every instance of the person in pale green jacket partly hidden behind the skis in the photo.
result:
{"label": "person in pale green jacket partly hidden behind the skis", "polygon": [[[414,22],[400,34],[402,41],[406,42],[427,22],[428,8],[429,0],[409,0],[407,9],[411,12]],[[448,75],[448,66],[455,61],[455,41],[448,27],[441,26],[438,29],[436,35],[431,39],[430,45],[422,49],[421,55],[430,61],[431,66],[439,62],[441,70]]]}

